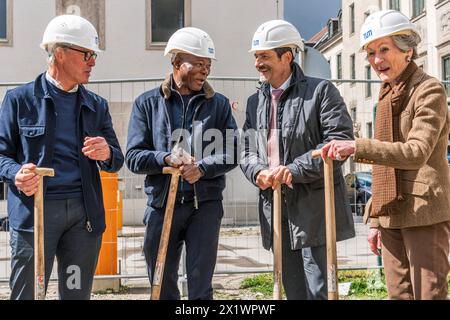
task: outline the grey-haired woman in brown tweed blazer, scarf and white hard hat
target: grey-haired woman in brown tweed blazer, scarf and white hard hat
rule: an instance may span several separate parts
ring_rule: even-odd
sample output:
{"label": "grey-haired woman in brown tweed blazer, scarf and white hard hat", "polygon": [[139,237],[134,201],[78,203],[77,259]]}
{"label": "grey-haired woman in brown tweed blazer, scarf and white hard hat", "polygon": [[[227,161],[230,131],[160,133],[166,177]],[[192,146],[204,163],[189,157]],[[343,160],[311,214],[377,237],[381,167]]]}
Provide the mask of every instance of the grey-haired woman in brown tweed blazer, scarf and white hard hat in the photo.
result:
{"label": "grey-haired woman in brown tweed blazer, scarf and white hard hat", "polygon": [[367,17],[361,47],[382,80],[375,139],[332,141],[323,157],[373,164],[368,241],[381,253],[390,299],[446,299],[450,269],[449,132],[442,84],[414,63],[420,42],[402,13]]}

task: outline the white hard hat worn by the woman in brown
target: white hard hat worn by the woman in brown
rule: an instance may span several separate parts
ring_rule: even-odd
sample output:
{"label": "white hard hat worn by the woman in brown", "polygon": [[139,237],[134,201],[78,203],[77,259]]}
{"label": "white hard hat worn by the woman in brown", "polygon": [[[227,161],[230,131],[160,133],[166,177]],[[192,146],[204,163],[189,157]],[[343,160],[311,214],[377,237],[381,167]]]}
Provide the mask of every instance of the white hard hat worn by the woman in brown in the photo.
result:
{"label": "white hard hat worn by the woman in brown", "polygon": [[369,42],[397,34],[415,33],[419,31],[408,17],[396,10],[381,10],[372,13],[366,18],[361,27],[360,44],[364,50]]}

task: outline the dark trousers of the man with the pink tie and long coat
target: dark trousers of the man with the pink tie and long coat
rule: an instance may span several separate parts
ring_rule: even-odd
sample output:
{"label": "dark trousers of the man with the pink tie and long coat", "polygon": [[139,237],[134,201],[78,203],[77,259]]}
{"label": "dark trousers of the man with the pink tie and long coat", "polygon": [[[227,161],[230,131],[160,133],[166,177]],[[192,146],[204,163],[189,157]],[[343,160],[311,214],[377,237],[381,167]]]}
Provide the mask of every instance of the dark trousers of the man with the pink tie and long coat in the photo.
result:
{"label": "dark trousers of the man with the pink tie and long coat", "polygon": [[289,224],[283,208],[282,272],[283,287],[288,300],[326,300],[326,246],[291,249]]}

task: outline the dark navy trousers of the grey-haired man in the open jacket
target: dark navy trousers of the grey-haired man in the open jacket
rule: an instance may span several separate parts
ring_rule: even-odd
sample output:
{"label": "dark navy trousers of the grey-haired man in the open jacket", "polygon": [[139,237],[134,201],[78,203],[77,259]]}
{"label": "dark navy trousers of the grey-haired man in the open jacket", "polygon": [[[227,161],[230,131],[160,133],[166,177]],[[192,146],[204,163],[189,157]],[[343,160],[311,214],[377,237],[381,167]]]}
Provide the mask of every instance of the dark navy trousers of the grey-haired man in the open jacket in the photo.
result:
{"label": "dark navy trousers of the grey-haired man in the open jacket", "polygon": [[[44,201],[45,289],[56,256],[60,299],[88,300],[102,236],[86,230],[83,199]],[[11,299],[34,298],[34,233],[10,230]]]}

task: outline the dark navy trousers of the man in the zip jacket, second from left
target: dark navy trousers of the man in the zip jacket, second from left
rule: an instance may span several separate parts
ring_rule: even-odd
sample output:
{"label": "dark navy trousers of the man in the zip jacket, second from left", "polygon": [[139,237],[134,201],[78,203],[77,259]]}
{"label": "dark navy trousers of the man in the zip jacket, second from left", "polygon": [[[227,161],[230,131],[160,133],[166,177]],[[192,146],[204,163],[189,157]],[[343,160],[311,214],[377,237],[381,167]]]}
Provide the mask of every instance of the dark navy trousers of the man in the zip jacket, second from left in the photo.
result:
{"label": "dark navy trousers of the man in the zip jacket, second from left", "polygon": [[[164,221],[164,209],[147,207],[144,254],[150,283],[158,256]],[[216,266],[219,228],[223,217],[222,201],[206,201],[195,209],[192,201],[177,204],[173,213],[167,257],[161,285],[161,300],[179,300],[178,269],[186,245],[186,272],[188,298],[210,300],[213,298],[212,277]]]}

